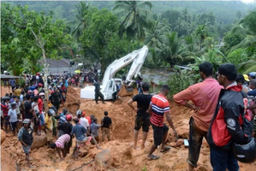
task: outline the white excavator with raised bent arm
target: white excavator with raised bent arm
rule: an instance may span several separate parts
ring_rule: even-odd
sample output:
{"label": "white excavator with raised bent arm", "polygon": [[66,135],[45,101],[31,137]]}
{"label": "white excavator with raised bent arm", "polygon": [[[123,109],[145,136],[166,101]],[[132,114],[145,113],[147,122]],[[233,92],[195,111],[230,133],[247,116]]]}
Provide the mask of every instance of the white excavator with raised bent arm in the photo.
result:
{"label": "white excavator with raised bent arm", "polygon": [[[133,62],[131,68],[128,71],[126,76],[126,80],[124,83],[128,84],[128,86],[133,85],[138,75],[140,75],[140,68],[142,67],[146,55],[148,52],[148,48],[144,45],[140,50],[134,50],[122,58],[115,60],[112,62],[106,71],[104,72],[104,78],[102,80],[102,85],[100,85],[101,92],[104,95],[105,100],[111,100],[112,94],[117,91],[116,90],[116,82],[122,83],[122,79],[114,78],[115,74],[129,63]],[[80,90],[80,97],[87,99],[94,99],[94,89],[93,85],[88,85],[85,88]]]}

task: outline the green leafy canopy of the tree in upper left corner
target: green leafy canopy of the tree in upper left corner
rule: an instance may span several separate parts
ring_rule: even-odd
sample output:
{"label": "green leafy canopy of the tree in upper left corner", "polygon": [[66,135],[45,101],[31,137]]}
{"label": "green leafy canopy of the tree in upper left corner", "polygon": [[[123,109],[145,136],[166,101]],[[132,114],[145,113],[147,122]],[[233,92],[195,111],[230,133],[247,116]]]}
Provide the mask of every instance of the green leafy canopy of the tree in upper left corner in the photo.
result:
{"label": "green leafy canopy of the tree in upper left corner", "polygon": [[13,74],[19,75],[24,69],[33,74],[41,71],[41,57],[57,58],[60,46],[68,44],[64,21],[53,21],[52,13],[45,15],[9,3],[3,3],[1,10],[1,27],[6,33],[1,39],[1,62],[8,62]]}

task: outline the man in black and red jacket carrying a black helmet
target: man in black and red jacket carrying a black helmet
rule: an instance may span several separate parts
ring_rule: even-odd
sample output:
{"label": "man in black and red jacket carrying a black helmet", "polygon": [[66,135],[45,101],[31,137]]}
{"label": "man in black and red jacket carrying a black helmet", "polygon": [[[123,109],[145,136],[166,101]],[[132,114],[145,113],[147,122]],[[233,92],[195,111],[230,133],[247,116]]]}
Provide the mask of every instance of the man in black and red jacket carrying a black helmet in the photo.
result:
{"label": "man in black and red jacket carrying a black helmet", "polygon": [[247,109],[247,95],[237,85],[234,64],[225,63],[218,68],[217,81],[223,85],[217,108],[211,120],[207,141],[211,150],[211,166],[213,170],[239,170],[232,150],[232,143],[247,144],[251,133],[241,127],[244,111]]}

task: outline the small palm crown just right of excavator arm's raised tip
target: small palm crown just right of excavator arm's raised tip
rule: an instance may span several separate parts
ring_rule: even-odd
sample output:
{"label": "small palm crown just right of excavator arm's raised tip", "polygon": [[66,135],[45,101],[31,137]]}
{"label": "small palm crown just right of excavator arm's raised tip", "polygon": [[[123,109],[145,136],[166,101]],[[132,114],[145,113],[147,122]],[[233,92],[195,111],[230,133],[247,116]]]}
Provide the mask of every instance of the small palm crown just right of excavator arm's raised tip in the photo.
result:
{"label": "small palm crown just right of excavator arm's raised tip", "polygon": [[149,47],[160,50],[166,41],[166,33],[169,31],[170,27],[164,25],[161,21],[152,21],[152,27],[146,29],[144,43]]}

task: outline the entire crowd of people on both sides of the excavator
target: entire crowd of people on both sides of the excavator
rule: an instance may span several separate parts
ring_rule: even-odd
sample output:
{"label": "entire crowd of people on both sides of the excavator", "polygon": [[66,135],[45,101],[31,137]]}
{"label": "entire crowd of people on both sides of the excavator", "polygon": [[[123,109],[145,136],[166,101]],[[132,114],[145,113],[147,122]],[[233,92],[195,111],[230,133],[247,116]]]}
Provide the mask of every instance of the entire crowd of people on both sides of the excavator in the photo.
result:
{"label": "entire crowd of people on both sides of the excavator", "polygon": [[[237,74],[235,65],[225,63],[221,65],[217,74],[213,74],[210,62],[199,65],[199,74],[202,82],[191,85],[188,89],[177,93],[173,99],[176,103],[193,109],[189,121],[189,146],[188,146],[188,170],[197,167],[199,152],[203,138],[210,145],[211,166],[213,170],[239,170],[238,161],[250,162],[256,159],[256,73]],[[58,113],[60,103],[66,100],[68,79],[64,75],[48,78],[48,90],[50,91],[48,111],[45,112],[45,80],[43,74],[31,76],[24,75],[26,85],[21,87],[10,80],[12,93],[1,98],[1,127],[6,132],[11,130],[18,134],[22,148],[26,154],[27,165],[31,167],[29,150],[33,144],[33,132],[35,136],[46,133],[49,148],[56,149],[60,160],[69,153],[72,139],[75,138],[73,150],[74,158],[79,155],[80,147],[85,144],[95,144],[98,149],[100,140],[105,137],[110,141],[112,121],[108,111],[104,111],[104,117],[98,124],[95,115],[86,115],[85,111],[77,110],[75,117],[67,109]],[[217,78],[214,78],[214,77]],[[79,77],[79,74],[77,74]],[[95,102],[104,96],[100,92],[97,80],[93,80],[95,86]],[[117,85],[117,84],[116,84]],[[160,152],[170,150],[166,145],[169,127],[164,124],[164,117],[173,130],[172,135],[178,139],[178,133],[174,126],[171,114],[168,94],[170,87],[162,85],[156,95],[149,93],[150,85],[146,82],[137,83],[140,93],[128,101],[128,106],[136,112],[134,123],[134,149],[137,148],[137,139],[140,128],[143,131],[141,149],[145,143],[150,126],[153,130],[153,144],[146,159],[157,160],[159,156],[154,151],[160,148]],[[116,95],[115,95],[116,96]],[[97,97],[97,98],[96,98]],[[191,101],[192,103],[190,103]],[[137,103],[135,108],[133,103]],[[74,121],[74,124],[72,124]],[[102,130],[102,138],[99,138],[99,129]],[[253,143],[251,143],[253,142]],[[251,146],[246,146],[250,144]],[[252,145],[254,144],[254,146]],[[245,150],[245,149],[247,150]],[[249,149],[249,150],[248,150]],[[240,151],[238,154],[237,151]],[[246,156],[246,159],[242,158]],[[252,155],[252,152],[254,155]],[[241,157],[241,158],[240,158]]]}

